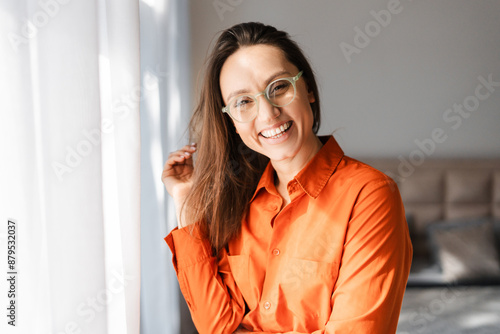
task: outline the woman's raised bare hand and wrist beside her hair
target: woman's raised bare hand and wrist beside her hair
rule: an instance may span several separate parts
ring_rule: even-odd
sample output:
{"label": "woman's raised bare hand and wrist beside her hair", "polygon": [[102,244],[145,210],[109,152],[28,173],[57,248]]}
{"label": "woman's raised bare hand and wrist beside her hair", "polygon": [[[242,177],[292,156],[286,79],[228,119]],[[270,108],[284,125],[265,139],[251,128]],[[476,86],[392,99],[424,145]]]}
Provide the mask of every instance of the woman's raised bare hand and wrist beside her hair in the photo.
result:
{"label": "woman's raised bare hand and wrist beside her hair", "polygon": [[[170,153],[161,175],[161,181],[165,185],[165,188],[167,188],[167,192],[174,199],[179,224],[181,221],[179,216],[180,208],[193,184],[194,152],[196,152],[196,144],[186,145],[180,150]],[[179,225],[179,228],[181,227]]]}

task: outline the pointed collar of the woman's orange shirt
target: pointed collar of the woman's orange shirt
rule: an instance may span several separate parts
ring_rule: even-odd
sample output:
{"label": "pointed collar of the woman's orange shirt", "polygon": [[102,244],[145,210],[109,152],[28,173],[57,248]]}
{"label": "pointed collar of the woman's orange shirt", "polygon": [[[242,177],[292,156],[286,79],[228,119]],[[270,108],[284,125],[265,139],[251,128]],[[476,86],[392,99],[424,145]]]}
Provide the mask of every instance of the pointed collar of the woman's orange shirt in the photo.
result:
{"label": "pointed collar of the woman's orange shirt", "polygon": [[[309,161],[309,163],[294,177],[295,181],[302,187],[304,192],[312,198],[318,197],[344,157],[344,151],[342,151],[332,135],[319,136],[318,138],[323,143],[323,147],[321,147],[311,161]],[[274,186],[274,168],[271,162],[267,164],[264,173],[262,173],[250,202],[253,201],[262,188],[265,188],[271,194],[278,195],[276,187]]]}

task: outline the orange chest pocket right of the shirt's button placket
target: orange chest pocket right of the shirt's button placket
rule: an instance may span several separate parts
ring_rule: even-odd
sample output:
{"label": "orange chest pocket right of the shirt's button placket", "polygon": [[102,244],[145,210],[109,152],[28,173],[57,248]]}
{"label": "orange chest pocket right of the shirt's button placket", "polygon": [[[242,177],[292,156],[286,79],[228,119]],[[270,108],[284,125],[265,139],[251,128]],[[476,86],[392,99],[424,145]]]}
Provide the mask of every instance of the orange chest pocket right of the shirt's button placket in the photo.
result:
{"label": "orange chest pocket right of the shirt's button placket", "polygon": [[290,258],[280,280],[280,303],[297,315],[328,319],[338,264]]}

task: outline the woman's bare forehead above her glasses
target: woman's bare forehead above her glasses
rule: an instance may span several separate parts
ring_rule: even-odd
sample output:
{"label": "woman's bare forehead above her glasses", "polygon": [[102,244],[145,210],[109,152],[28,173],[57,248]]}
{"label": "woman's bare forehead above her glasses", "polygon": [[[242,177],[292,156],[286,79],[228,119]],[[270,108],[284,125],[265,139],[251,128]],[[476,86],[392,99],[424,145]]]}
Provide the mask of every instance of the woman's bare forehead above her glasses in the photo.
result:
{"label": "woman's bare forehead above her glasses", "polygon": [[263,44],[242,47],[222,66],[219,77],[222,96],[226,98],[234,91],[260,91],[269,77],[284,71],[290,75],[298,72],[281,49]]}

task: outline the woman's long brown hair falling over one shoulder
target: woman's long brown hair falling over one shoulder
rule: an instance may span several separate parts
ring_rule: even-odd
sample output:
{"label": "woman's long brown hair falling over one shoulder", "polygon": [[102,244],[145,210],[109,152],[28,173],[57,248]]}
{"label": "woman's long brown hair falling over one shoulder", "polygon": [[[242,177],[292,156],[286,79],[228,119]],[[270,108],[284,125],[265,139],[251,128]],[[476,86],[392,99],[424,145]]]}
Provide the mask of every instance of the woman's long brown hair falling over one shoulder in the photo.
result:
{"label": "woman's long brown hair falling over one shoulder", "polygon": [[193,186],[183,210],[197,222],[202,235],[217,255],[241,228],[242,218],[269,159],[248,148],[226,113],[219,76],[226,59],[240,47],[266,44],[282,50],[285,58],[303,71],[307,87],[314,93],[311,104],[317,133],[320,124],[319,94],[314,74],[299,46],[283,31],[262,23],[235,25],[217,39],[208,57],[201,96],[190,123],[198,143]]}

